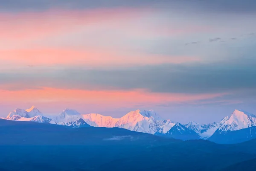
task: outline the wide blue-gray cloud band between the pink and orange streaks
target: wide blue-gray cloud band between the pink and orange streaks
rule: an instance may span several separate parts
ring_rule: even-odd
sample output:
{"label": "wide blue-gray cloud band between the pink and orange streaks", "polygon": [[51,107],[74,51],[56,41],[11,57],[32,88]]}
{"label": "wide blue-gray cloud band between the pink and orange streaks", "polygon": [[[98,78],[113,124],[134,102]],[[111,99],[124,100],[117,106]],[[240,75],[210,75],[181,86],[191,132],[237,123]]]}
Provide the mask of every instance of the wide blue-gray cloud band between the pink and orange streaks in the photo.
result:
{"label": "wide blue-gray cloud band between the pink and orange streaks", "polygon": [[146,89],[161,93],[217,93],[256,88],[256,61],[243,59],[213,64],[163,64],[123,69],[66,68],[0,73],[7,89],[62,87],[89,90]]}

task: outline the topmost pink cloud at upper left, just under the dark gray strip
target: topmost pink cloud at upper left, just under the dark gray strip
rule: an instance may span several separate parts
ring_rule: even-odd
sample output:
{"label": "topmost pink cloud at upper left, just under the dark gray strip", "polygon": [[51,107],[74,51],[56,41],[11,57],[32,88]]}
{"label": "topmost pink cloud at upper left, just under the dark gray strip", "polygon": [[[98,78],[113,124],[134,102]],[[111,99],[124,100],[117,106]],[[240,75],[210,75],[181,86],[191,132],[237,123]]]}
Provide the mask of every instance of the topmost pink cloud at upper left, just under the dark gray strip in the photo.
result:
{"label": "topmost pink cloud at upper left, just under the dark gray strip", "polygon": [[149,9],[117,8],[0,13],[0,38],[24,40],[63,34],[94,23],[140,17]]}

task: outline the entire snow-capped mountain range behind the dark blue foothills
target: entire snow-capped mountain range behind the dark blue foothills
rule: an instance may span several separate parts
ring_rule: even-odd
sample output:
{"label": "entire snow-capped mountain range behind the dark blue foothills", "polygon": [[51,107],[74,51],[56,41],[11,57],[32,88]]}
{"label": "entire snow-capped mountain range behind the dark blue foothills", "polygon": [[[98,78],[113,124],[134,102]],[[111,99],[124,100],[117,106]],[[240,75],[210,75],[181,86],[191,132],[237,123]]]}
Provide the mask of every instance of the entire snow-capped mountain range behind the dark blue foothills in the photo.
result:
{"label": "entire snow-capped mountain range behind the dark blue foothills", "polygon": [[256,138],[254,128],[256,116],[242,110],[235,110],[231,116],[221,119],[220,122],[202,125],[196,122],[182,125],[171,120],[164,120],[154,110],[135,110],[121,118],[113,118],[97,113],[81,114],[76,110],[64,109],[57,116],[47,117],[34,106],[26,110],[15,109],[2,119],[57,124],[74,128],[117,127],[181,140],[208,139],[218,143],[236,143]]}

